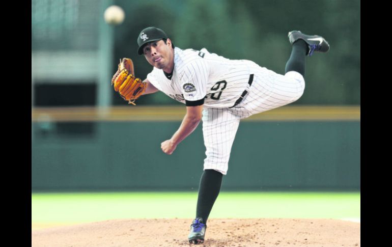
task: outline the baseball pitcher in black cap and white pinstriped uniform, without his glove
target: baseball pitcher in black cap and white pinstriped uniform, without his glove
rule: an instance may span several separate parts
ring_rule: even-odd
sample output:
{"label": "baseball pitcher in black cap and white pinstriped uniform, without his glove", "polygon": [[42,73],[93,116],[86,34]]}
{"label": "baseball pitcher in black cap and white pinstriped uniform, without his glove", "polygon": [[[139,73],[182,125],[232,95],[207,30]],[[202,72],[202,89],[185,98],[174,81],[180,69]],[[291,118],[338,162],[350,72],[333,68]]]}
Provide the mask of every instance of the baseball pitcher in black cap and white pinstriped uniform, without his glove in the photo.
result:
{"label": "baseball pitcher in black cap and white pinstriped uniform, without his glove", "polygon": [[186,105],[186,114],[172,137],[161,143],[172,154],[203,122],[206,147],[196,215],[190,243],[202,243],[208,216],[227,174],[231,147],[241,119],[296,101],[305,88],[305,57],[327,52],[329,44],[318,35],[289,32],[291,56],[285,74],[277,74],[249,60],[230,60],[201,50],[175,47],[165,32],[153,26],[137,37],[139,55],[154,68],[143,81],[143,94],[162,91]]}

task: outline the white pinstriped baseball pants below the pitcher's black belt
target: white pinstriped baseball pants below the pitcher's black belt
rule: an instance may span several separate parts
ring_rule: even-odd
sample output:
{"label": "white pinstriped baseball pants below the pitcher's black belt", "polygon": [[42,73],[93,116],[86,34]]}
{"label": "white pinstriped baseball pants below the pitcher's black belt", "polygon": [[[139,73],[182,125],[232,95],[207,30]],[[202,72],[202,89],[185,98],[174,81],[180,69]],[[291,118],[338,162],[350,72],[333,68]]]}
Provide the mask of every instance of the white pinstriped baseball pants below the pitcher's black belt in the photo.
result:
{"label": "white pinstriped baseball pants below the pitcher's black belt", "polygon": [[[301,74],[290,71],[285,75],[258,68],[248,93],[233,108],[203,109],[203,137],[206,146],[204,170],[213,169],[227,174],[230,152],[241,119],[268,111],[299,99],[305,89]],[[261,71],[260,71],[261,70]]]}

